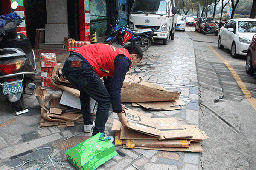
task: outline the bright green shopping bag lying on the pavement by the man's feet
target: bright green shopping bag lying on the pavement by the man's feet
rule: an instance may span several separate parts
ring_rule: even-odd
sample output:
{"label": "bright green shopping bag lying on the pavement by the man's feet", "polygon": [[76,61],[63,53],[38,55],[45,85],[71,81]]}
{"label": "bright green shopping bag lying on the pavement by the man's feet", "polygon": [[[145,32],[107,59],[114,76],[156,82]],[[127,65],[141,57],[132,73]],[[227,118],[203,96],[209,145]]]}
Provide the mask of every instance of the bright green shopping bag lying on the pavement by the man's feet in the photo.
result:
{"label": "bright green shopping bag lying on the pavement by the man's feet", "polygon": [[117,155],[116,147],[98,133],[66,151],[67,159],[78,170],[95,170]]}

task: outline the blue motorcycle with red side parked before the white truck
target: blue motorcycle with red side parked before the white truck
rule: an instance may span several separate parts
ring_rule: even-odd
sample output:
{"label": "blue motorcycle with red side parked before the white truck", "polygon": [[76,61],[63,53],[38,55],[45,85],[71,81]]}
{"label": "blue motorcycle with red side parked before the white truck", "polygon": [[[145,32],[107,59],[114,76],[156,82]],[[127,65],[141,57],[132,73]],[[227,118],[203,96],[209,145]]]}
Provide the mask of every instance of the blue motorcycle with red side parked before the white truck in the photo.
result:
{"label": "blue motorcycle with red side parked before the white truck", "polygon": [[148,50],[151,42],[154,42],[154,28],[131,31],[131,27],[127,25],[120,26],[118,25],[118,19],[116,17],[115,19],[116,22],[113,25],[110,24],[112,32],[103,43],[112,45],[115,41],[117,45],[125,45],[127,42],[135,42],[143,52]]}

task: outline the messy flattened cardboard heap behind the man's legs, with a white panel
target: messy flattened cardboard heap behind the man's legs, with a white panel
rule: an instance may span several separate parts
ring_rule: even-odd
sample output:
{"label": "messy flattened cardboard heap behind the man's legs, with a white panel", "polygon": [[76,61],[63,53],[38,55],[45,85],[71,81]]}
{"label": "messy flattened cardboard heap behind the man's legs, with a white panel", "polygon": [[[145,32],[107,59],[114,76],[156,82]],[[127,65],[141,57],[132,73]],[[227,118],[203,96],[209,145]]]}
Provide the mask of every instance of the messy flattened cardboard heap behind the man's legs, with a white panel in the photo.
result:
{"label": "messy flattened cardboard heap behind the man's legs, with a white panel", "polygon": [[[38,87],[35,96],[41,106],[40,127],[75,126],[75,122],[83,122],[80,104],[80,91],[75,89],[70,82],[61,77],[62,65],[55,65],[52,71],[51,88],[61,87],[61,95],[48,94],[47,90]],[[58,85],[61,84],[61,85]],[[96,101],[91,99],[91,111],[95,119]]]}

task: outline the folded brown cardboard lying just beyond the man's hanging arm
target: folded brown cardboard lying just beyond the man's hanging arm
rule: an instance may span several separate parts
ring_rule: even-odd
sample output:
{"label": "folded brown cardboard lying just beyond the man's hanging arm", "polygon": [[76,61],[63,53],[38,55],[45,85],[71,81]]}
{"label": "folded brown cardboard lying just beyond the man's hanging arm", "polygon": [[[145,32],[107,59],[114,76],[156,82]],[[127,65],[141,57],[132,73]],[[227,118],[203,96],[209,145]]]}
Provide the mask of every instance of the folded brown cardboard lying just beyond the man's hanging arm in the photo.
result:
{"label": "folded brown cardboard lying just beyond the man's hanging arm", "polygon": [[146,82],[143,78],[126,74],[121,89],[121,101],[132,102],[133,106],[142,106],[154,110],[182,109],[185,103],[179,100],[180,91],[169,91],[160,85]]}

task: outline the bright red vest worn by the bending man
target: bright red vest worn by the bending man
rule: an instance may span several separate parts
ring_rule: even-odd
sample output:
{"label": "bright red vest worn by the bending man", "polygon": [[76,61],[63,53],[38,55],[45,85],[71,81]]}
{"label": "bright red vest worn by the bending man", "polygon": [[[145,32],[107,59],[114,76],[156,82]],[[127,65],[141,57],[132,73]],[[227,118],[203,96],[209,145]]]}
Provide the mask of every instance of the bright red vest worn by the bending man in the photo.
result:
{"label": "bright red vest worn by the bending man", "polygon": [[[116,48],[108,44],[89,44],[78,48],[74,52],[81,54],[92,65],[99,77],[113,77],[115,70],[114,60],[119,54],[131,59],[130,53],[125,48]],[[106,71],[108,70],[109,73],[101,71],[100,69],[102,68]]]}

